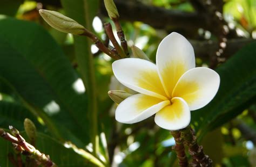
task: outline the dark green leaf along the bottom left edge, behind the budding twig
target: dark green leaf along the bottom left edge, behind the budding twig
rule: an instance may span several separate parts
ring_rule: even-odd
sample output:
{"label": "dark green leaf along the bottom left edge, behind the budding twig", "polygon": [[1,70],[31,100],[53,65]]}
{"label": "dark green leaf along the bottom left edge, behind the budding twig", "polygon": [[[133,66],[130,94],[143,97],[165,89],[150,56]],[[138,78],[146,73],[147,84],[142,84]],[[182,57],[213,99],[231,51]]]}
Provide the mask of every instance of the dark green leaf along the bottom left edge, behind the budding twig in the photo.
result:
{"label": "dark green leaf along the bottom left edge, behind the budding twig", "polygon": [[[25,136],[24,133],[22,133]],[[8,161],[8,154],[14,154],[12,144],[2,138],[0,138],[0,166],[12,166]],[[50,155],[53,162],[58,166],[96,166],[93,164],[100,164],[95,159],[90,159],[90,154],[85,154],[82,151],[77,154],[72,148],[66,148],[62,143],[52,139],[51,137],[42,133],[37,133],[36,148],[46,155]]]}

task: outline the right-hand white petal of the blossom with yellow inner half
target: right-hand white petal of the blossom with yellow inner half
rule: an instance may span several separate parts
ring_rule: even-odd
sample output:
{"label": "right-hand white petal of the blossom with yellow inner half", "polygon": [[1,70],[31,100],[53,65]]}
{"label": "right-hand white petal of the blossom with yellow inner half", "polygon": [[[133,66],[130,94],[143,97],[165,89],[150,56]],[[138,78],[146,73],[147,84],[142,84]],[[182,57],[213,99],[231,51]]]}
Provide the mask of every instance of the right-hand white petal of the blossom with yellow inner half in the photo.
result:
{"label": "right-hand white petal of the blossom with yellow inner half", "polygon": [[216,95],[220,84],[217,72],[205,67],[193,68],[179,79],[172,97],[183,98],[190,110],[207,105]]}

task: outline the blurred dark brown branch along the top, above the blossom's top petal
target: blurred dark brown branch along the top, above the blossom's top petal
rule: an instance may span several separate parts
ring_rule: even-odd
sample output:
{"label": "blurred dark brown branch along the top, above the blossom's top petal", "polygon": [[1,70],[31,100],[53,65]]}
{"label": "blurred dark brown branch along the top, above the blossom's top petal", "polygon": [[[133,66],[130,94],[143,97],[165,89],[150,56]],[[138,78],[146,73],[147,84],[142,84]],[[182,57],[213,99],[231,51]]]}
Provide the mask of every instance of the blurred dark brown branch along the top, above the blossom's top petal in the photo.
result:
{"label": "blurred dark brown branch along the top, above the blossom's top petal", "polygon": [[[198,13],[167,10],[156,6],[145,5],[134,1],[114,1],[121,20],[142,21],[154,28],[165,29],[170,26],[184,29],[206,27],[205,20]],[[104,3],[101,3],[100,13],[108,16]]]}

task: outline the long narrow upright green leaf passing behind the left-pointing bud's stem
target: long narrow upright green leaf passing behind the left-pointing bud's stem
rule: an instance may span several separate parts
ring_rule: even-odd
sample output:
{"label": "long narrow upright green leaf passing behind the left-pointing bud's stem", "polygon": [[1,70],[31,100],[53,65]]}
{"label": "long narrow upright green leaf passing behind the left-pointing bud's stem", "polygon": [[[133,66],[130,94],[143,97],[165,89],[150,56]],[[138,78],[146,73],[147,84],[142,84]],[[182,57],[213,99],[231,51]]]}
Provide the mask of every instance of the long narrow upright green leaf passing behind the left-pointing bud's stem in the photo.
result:
{"label": "long narrow upright green leaf passing behind the left-pointing bud's stem", "polygon": [[[68,17],[76,20],[86,29],[92,31],[92,20],[99,8],[98,0],[62,0],[63,8]],[[91,54],[91,42],[86,37],[75,36],[76,61],[82,76],[88,97],[88,110],[90,111],[90,137],[93,144],[93,151],[97,152],[98,143],[98,107],[96,95],[96,78],[93,56]]]}

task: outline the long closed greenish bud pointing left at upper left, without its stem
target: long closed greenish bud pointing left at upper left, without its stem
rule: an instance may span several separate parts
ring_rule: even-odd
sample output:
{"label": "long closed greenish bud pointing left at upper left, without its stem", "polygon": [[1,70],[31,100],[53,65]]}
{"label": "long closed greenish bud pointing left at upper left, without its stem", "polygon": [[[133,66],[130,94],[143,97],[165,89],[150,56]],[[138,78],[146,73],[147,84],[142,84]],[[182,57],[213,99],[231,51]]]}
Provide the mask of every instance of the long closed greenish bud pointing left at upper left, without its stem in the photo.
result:
{"label": "long closed greenish bud pointing left at upper left, without its stem", "polygon": [[66,17],[59,12],[41,9],[39,10],[39,13],[46,21],[46,23],[58,31],[75,35],[80,35],[85,32],[84,26],[78,24],[77,21]]}

